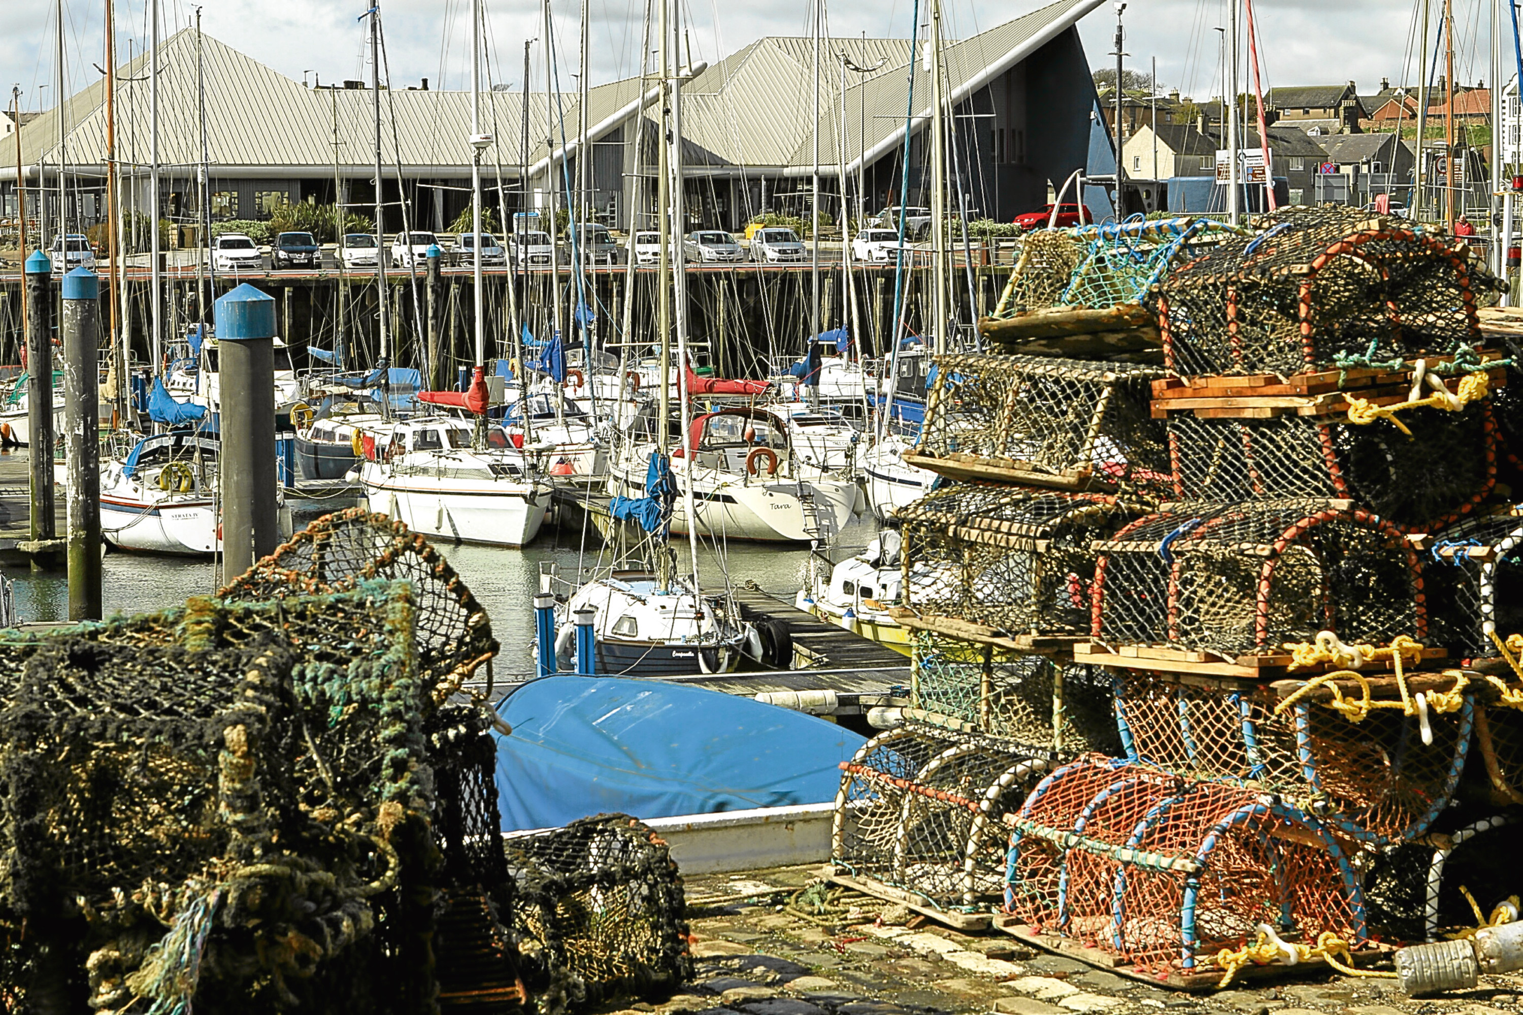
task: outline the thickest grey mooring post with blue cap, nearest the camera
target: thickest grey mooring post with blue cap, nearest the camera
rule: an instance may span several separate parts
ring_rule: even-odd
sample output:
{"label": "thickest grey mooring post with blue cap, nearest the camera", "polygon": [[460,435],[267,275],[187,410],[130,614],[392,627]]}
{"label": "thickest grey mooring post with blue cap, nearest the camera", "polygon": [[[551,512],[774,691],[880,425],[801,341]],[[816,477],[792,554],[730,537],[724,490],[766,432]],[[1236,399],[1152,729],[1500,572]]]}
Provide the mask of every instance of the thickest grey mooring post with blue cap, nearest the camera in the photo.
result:
{"label": "thickest grey mooring post with blue cap, nearest the camera", "polygon": [[276,302],[239,285],[212,306],[222,370],[222,575],[274,552]]}

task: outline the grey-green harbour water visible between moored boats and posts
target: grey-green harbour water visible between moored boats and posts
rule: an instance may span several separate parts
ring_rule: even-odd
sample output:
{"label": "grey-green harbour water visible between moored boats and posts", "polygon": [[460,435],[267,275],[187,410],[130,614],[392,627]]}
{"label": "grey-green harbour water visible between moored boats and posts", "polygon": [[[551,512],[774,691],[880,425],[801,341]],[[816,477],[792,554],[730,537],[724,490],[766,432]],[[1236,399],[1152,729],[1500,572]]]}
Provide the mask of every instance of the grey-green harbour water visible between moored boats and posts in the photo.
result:
{"label": "grey-green harbour water visible between moored boats and posts", "polygon": [[[24,459],[26,450],[5,453],[9,459]],[[20,503],[24,511],[24,500]],[[830,547],[832,559],[850,556],[876,535],[871,512],[853,521]],[[687,567],[687,538],[676,536],[679,567]],[[503,651],[495,672],[504,677],[533,671],[533,607],[539,587],[541,562],[553,562],[567,581],[588,568],[606,567],[602,546],[589,533],[586,547],[579,532],[545,529],[522,550],[487,546],[440,544],[440,552],[454,565],[475,597],[492,617],[492,631]],[[809,550],[758,543],[731,543],[716,547],[704,541],[699,547],[699,573],[705,588],[725,582],[740,585],[755,582],[763,591],[792,600],[809,567]],[[32,573],[8,568],[14,582],[17,616],[21,620],[49,622],[69,617],[69,587],[62,572]],[[187,596],[216,591],[216,575],[210,559],[108,553],[104,562],[105,616],[163,610],[181,604]]]}

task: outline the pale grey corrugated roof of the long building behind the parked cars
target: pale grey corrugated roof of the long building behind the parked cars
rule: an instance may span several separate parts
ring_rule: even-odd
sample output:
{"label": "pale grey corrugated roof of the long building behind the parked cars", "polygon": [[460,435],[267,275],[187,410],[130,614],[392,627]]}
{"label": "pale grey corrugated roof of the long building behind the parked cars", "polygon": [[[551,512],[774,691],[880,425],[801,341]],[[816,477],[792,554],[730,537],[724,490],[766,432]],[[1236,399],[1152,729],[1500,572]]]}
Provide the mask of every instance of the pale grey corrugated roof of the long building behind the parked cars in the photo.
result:
{"label": "pale grey corrugated roof of the long building behind the parked cars", "polygon": [[[1052,38],[1101,0],[1057,0],[963,41],[946,44],[943,59],[952,94],[959,98],[981,75],[1002,73],[1022,55],[1022,47]],[[373,93],[364,90],[308,88],[210,35],[201,37],[206,81],[209,162],[218,171],[239,168],[330,168],[337,162],[347,174],[362,174],[373,163]],[[841,130],[839,53],[859,67],[883,66],[867,75],[847,72],[845,142],[848,157],[903,137],[908,78],[914,67],[917,114],[929,111],[931,85],[923,62],[912,59],[908,40],[825,40],[821,52],[822,114],[821,162],[835,166]],[[148,72],[142,55],[120,69],[123,78]],[[649,85],[647,85],[649,87]],[[640,81],[629,78],[591,88],[588,119],[597,126],[635,102]],[[809,38],[771,37],[694,76],[682,88],[682,136],[687,160],[694,166],[801,168],[813,158],[815,81]],[[530,152],[533,165],[547,155],[545,140],[554,122],[554,148],[576,143],[579,104],[574,93],[530,93]],[[105,84],[97,81],[67,102],[69,163],[105,163]],[[483,125],[493,130],[498,145],[487,151],[487,165],[501,160],[504,172],[519,163],[521,91],[483,94]],[[390,90],[381,93],[382,151],[385,165],[405,171],[466,171],[471,165],[471,94],[468,91]],[[164,166],[196,165],[200,148],[200,102],[196,93],[196,34],[177,32],[160,49],[160,152]],[[652,113],[653,114],[653,110]],[[862,117],[867,130],[864,136]],[[21,128],[21,160],[40,157],[55,163],[58,110],[49,110]],[[148,82],[123,82],[117,90],[117,158],[146,165],[149,158]],[[918,126],[918,122],[917,122]],[[0,177],[14,177],[14,168]]]}

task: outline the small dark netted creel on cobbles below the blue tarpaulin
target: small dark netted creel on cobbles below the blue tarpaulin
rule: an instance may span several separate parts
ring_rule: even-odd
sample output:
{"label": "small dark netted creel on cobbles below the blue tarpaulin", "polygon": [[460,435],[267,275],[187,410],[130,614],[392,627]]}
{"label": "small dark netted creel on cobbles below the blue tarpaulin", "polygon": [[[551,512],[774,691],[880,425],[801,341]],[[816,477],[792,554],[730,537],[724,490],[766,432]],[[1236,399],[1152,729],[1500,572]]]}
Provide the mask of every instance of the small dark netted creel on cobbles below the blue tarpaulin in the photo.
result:
{"label": "small dark netted creel on cobbles below the blue tarpaulin", "polygon": [[682,879],[667,844],[626,814],[507,840],[513,934],[541,1015],[691,975]]}

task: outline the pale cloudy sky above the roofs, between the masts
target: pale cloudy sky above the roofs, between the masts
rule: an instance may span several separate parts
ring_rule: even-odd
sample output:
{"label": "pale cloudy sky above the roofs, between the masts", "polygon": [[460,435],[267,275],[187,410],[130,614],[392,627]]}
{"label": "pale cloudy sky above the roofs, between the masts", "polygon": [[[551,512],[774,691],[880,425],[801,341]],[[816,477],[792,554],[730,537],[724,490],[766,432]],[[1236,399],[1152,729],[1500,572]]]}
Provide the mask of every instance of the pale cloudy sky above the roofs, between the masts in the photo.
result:
{"label": "pale cloudy sky above the roofs, between the masts", "polygon": [[[0,0],[0,88],[9,105],[12,85],[23,108],[52,104],[55,5],[58,0]],[[483,0],[489,18],[493,81],[519,85],[524,40],[542,35],[536,0]],[[640,0],[588,0],[592,6],[592,81],[631,75],[638,67]],[[142,47],[148,0],[116,0],[119,52],[126,40]],[[203,0],[203,27],[276,70],[321,81],[369,76],[364,29],[356,17],[369,0]],[[694,59],[734,52],[760,35],[803,35],[810,0],[684,0]],[[906,37],[914,0],[825,0],[833,35]],[[929,0],[921,0],[924,11]],[[1040,6],[1040,0],[943,0],[956,37],[973,35]],[[164,30],[189,24],[190,0],[160,0]],[[65,67],[70,90],[97,76],[105,0],[64,0]],[[1439,5],[1435,5],[1438,8]],[[577,0],[551,0],[562,85],[574,87]],[[1415,78],[1412,0],[1258,0],[1264,85],[1330,84],[1354,79],[1372,91],[1380,78]],[[391,78],[398,87],[429,78],[434,87],[468,87],[469,0],[382,0]],[[1197,98],[1220,93],[1217,26],[1224,0],[1130,0],[1125,11],[1129,66],[1157,59],[1159,81]],[[1482,0],[1456,0],[1456,78],[1488,73],[1488,12]],[[1115,15],[1106,3],[1080,23],[1090,66],[1109,66]],[[1509,40],[1511,41],[1511,40]],[[542,72],[533,73],[542,81]],[[1247,87],[1247,82],[1244,82]]]}

